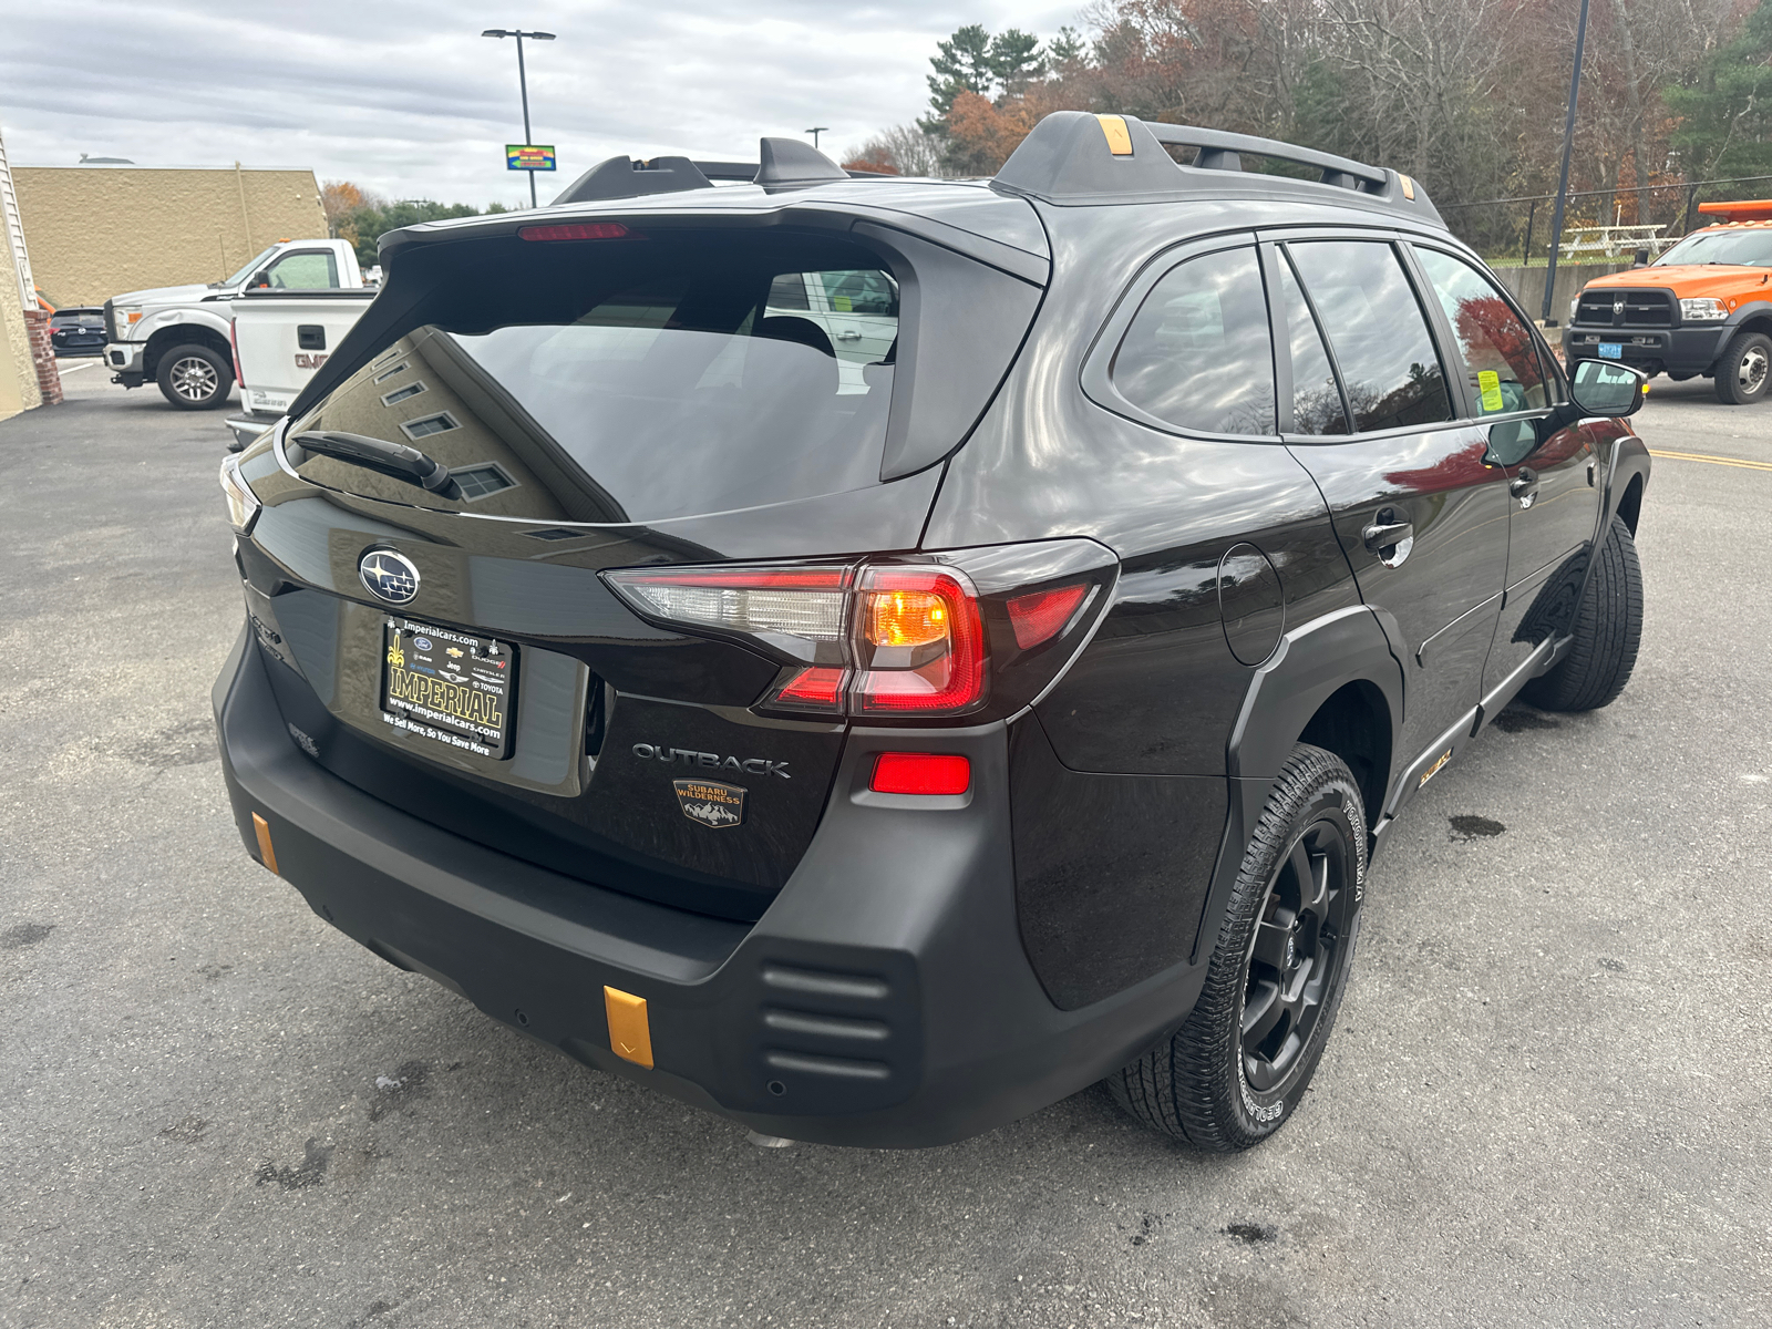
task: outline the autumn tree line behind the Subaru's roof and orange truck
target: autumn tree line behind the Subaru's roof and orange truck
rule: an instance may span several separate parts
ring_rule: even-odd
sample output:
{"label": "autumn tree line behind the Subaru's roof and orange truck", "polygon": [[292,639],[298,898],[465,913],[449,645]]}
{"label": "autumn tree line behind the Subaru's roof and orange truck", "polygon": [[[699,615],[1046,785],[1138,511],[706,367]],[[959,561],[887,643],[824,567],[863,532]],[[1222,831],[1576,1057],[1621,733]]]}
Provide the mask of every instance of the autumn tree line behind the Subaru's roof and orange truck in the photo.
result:
{"label": "autumn tree line behind the Subaru's roof and orange truck", "polygon": [[[1093,0],[1084,30],[1044,41],[971,25],[937,43],[927,113],[845,165],[989,175],[1040,117],[1116,112],[1395,167],[1499,246],[1522,213],[1458,206],[1556,188],[1577,14],[1574,0]],[[1682,186],[1745,175],[1772,175],[1772,0],[1591,0],[1570,188],[1593,193],[1572,214],[1678,225]]]}

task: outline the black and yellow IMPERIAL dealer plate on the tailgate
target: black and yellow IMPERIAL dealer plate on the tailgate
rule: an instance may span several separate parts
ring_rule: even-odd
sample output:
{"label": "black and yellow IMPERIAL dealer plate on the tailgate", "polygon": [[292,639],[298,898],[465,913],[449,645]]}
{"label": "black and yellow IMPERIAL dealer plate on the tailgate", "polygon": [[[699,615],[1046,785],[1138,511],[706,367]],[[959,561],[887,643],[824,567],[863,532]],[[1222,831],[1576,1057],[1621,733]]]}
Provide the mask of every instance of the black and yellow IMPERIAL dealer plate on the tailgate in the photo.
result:
{"label": "black and yellow IMPERIAL dealer plate on the tailgate", "polygon": [[514,645],[411,618],[390,618],[381,636],[385,721],[480,757],[510,755]]}

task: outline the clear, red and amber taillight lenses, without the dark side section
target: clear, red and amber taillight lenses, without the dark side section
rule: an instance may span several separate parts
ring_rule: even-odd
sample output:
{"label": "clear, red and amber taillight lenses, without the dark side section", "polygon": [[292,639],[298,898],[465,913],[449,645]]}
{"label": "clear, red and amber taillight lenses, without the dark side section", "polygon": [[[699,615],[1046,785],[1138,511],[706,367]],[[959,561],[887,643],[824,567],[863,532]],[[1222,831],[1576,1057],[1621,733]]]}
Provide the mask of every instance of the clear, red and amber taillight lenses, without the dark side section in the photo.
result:
{"label": "clear, red and amber taillight lenses, without the dark side section", "polygon": [[767,709],[941,716],[975,709],[989,691],[978,595],[957,569],[737,565],[602,576],[645,618],[742,638],[789,663]]}

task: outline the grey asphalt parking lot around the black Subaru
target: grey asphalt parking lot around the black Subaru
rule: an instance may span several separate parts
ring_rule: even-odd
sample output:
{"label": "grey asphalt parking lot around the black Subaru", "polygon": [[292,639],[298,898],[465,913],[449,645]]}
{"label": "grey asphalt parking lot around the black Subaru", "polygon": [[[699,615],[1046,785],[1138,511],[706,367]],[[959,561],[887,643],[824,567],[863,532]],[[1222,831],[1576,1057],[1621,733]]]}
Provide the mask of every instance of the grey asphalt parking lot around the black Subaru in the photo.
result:
{"label": "grey asphalt parking lot around the black Subaru", "polygon": [[1722,461],[1655,462],[1636,679],[1411,804],[1285,1132],[1095,1088],[890,1154],[755,1148],[248,859],[223,415],[105,377],[0,422],[0,1324],[1768,1322],[1772,406],[1657,379]]}

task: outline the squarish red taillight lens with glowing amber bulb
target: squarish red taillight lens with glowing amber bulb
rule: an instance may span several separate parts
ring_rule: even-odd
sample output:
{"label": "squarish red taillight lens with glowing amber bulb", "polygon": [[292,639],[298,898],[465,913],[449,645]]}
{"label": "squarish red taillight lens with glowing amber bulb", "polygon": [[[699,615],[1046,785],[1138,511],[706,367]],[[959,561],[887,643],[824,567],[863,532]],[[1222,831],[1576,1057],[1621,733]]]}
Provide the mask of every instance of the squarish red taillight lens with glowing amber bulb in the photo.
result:
{"label": "squarish red taillight lens with glowing amber bulb", "polygon": [[851,693],[856,714],[953,714],[985,698],[985,629],[959,574],[867,567]]}

